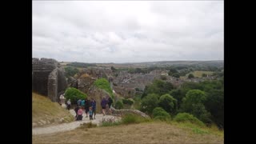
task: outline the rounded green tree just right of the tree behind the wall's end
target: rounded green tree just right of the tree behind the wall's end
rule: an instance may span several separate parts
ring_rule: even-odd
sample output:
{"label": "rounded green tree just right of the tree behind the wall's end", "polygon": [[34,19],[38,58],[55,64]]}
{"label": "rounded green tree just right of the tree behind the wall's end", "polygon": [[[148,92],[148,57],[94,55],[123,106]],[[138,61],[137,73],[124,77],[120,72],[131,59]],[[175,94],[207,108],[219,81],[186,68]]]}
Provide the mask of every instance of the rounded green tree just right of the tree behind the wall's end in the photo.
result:
{"label": "rounded green tree just right of the tree behind the wall's end", "polygon": [[170,96],[170,94],[162,95],[159,98],[158,105],[171,114],[175,114],[177,111],[177,100]]}

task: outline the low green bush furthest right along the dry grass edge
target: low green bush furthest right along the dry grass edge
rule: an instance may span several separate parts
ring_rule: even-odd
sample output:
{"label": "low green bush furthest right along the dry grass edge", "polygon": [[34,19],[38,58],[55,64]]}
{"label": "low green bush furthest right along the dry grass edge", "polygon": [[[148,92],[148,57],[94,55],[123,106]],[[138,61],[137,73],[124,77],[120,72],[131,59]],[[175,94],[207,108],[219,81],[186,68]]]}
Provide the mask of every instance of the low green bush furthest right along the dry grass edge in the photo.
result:
{"label": "low green bush furthest right along the dry grass edge", "polygon": [[205,126],[198,118],[195,118],[192,114],[179,113],[174,118],[175,122],[191,122],[197,124],[198,126]]}

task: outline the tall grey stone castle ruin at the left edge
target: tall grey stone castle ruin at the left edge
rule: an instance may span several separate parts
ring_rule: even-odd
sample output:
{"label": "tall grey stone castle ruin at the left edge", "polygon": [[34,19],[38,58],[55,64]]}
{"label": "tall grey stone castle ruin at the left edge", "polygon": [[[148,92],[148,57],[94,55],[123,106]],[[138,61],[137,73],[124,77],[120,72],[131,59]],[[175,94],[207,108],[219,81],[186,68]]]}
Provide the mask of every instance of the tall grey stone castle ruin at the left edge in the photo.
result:
{"label": "tall grey stone castle ruin at the left edge", "polygon": [[59,101],[59,95],[67,87],[64,70],[58,61],[51,58],[32,58],[32,90],[46,95],[52,102]]}

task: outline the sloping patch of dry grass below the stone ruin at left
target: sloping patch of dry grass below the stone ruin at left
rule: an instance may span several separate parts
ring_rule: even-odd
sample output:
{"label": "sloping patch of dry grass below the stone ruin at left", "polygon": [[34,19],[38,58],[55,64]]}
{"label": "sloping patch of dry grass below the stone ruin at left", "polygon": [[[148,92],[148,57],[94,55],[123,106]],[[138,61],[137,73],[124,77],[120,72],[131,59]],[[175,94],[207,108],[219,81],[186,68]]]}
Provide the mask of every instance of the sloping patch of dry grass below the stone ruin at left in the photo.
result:
{"label": "sloping patch of dry grass below the stone ruin at left", "polygon": [[[62,119],[62,120],[61,120]],[[51,102],[40,94],[32,94],[32,122],[34,126],[70,122],[74,117],[57,102]]]}

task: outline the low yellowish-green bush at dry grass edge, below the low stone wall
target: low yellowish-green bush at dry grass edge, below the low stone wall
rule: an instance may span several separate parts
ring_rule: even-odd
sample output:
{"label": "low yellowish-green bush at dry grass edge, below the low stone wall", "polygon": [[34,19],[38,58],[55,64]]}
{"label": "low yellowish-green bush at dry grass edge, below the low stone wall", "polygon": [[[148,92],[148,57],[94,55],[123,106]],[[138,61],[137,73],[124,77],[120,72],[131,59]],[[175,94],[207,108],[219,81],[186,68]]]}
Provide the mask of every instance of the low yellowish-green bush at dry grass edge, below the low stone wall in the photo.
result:
{"label": "low yellowish-green bush at dry grass edge, below the low stone wall", "polygon": [[140,122],[149,122],[149,119],[142,118],[141,116],[135,114],[126,114],[122,117],[122,124],[131,124],[131,123],[140,123]]}

